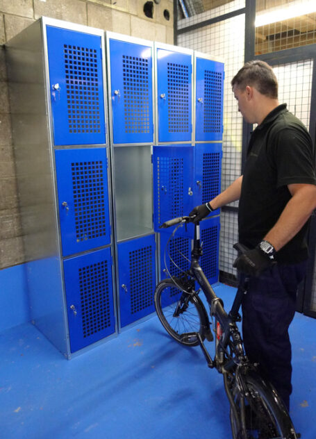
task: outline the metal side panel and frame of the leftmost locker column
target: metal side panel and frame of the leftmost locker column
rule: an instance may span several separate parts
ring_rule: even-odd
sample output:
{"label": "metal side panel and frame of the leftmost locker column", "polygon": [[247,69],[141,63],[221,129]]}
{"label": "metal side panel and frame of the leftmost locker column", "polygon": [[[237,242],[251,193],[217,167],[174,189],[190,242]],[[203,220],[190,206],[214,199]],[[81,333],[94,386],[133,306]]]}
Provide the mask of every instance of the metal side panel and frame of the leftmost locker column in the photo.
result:
{"label": "metal side panel and frame of the leftmost locker column", "polygon": [[[91,349],[92,346],[73,354],[69,344],[53,143],[47,26],[97,35],[100,37],[102,53],[105,53],[105,44],[104,32],[100,29],[47,17],[34,22],[6,44],[19,205],[28,260],[26,270],[31,319],[66,358],[71,358]],[[102,69],[103,104],[107,117],[105,56],[102,56]],[[103,122],[106,124],[106,120]],[[106,154],[107,142],[108,135],[106,144],[102,145]],[[100,147],[100,144],[76,145],[76,148],[82,149],[96,147]],[[68,148],[74,149],[72,146]],[[108,248],[112,249],[112,246],[108,245]],[[113,273],[113,292],[114,279]],[[113,300],[115,301],[115,297]],[[96,342],[93,346],[103,341]]]}

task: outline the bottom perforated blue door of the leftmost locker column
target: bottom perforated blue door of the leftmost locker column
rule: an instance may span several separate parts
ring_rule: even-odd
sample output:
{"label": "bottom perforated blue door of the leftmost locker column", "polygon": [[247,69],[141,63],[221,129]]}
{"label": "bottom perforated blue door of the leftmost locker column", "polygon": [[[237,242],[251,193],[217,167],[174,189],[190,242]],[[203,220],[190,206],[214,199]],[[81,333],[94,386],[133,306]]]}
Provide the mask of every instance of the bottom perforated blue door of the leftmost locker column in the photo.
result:
{"label": "bottom perforated blue door of the leftmost locker column", "polygon": [[64,260],[71,351],[115,332],[110,248]]}

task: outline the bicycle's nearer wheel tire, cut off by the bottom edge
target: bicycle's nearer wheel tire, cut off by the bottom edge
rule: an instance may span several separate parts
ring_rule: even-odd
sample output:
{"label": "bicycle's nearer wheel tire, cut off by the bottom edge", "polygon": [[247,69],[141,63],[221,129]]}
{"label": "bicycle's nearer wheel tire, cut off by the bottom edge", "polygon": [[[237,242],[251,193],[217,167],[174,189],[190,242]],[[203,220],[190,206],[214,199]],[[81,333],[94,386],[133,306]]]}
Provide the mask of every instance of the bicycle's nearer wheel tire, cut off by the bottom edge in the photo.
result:
{"label": "bicycle's nearer wheel tire, cut off by the bottom edge", "polygon": [[[256,372],[247,372],[240,376],[240,380],[245,396],[242,397],[239,386],[235,386],[233,399],[236,411],[233,408],[230,411],[233,439],[297,439],[290,415],[276,390]],[[246,434],[241,427],[242,398],[245,404]],[[235,418],[236,413],[238,420]]]}

